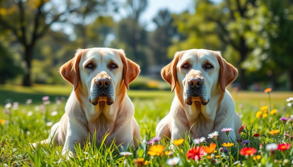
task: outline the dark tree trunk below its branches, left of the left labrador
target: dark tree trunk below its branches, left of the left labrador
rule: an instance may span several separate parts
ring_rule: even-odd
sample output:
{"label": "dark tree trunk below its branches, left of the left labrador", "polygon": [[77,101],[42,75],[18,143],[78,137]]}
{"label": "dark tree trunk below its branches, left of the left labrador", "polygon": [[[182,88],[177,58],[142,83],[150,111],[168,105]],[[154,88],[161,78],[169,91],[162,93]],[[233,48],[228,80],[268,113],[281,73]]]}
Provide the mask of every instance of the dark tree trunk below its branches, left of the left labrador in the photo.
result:
{"label": "dark tree trunk below its branches, left of the left labrador", "polygon": [[23,86],[31,86],[31,81],[30,81],[30,74],[31,74],[31,62],[33,59],[33,45],[32,46],[25,46],[25,54],[24,54],[24,59],[27,64],[28,72],[24,75],[22,85]]}

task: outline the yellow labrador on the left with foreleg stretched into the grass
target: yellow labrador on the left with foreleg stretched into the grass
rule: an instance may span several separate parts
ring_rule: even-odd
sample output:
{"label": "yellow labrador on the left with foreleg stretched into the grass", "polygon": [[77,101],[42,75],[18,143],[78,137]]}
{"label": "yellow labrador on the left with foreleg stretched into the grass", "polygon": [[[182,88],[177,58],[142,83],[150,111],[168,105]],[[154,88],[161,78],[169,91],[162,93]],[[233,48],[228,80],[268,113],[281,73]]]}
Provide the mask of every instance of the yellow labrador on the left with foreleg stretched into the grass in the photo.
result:
{"label": "yellow labrador on the left with foreleg stretched into the grass", "polygon": [[[90,136],[100,143],[105,134],[126,146],[140,140],[134,107],[126,94],[139,74],[139,66],[121,49],[78,49],[74,58],[60,68],[72,90],[65,113],[51,128],[54,143],[63,145],[63,154],[74,153],[74,145]],[[43,142],[50,143],[51,136]],[[72,151],[72,152],[71,152]]]}

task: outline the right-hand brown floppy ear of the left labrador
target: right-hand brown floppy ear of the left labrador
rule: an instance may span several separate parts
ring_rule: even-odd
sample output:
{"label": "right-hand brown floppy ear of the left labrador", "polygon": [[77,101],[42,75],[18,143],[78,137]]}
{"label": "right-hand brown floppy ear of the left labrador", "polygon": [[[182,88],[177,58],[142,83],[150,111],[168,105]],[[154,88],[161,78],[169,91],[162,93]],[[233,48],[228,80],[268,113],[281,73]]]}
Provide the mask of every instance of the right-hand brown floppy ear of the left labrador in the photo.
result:
{"label": "right-hand brown floppy ear of the left labrador", "polygon": [[138,76],[140,73],[139,65],[134,63],[130,59],[126,58],[124,50],[118,49],[118,54],[123,63],[123,80],[124,85],[129,90],[129,84]]}

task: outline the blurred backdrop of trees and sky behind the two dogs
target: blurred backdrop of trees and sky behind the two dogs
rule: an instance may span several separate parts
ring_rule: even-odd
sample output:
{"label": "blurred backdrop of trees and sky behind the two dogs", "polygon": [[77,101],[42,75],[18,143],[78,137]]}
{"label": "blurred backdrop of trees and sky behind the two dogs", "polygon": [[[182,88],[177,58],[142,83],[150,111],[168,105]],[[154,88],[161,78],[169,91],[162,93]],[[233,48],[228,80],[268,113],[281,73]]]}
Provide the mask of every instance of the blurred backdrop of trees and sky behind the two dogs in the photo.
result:
{"label": "blurred backdrop of trees and sky behind the two dogs", "polygon": [[170,89],[176,51],[209,49],[239,70],[232,87],[293,90],[291,0],[2,0],[0,84],[68,84],[77,48],[125,49],[141,66],[131,89]]}

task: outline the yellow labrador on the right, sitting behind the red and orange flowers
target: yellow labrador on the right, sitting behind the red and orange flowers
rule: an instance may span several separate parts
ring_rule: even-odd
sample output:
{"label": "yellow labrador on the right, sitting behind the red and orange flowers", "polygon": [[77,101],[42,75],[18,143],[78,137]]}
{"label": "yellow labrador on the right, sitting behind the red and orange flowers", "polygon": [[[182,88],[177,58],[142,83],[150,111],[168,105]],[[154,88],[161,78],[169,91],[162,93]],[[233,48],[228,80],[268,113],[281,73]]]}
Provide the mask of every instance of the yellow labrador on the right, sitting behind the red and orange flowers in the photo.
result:
{"label": "yellow labrador on the right, sitting behind the red and orange flowers", "polygon": [[239,138],[241,119],[226,89],[238,71],[222,58],[219,51],[191,49],[177,52],[161,75],[175,90],[171,110],[156,127],[157,137],[207,137],[218,131],[219,140],[227,140],[222,128],[233,128],[229,137]]}

